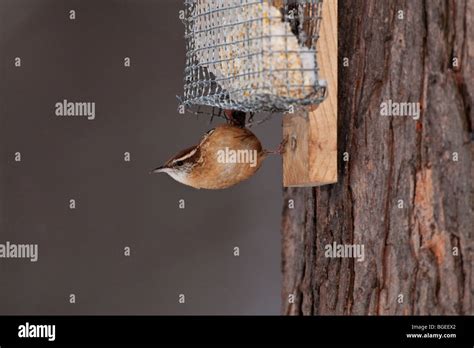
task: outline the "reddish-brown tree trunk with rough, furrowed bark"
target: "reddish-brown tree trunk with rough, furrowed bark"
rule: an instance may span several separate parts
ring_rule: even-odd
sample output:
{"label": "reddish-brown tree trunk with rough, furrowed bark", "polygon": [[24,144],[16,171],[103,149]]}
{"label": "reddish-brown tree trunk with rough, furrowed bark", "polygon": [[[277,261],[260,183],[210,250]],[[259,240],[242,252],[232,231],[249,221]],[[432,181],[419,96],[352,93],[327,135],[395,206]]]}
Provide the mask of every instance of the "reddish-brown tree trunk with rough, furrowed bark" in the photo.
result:
{"label": "reddish-brown tree trunk with rough, furrowed bark", "polygon": [[474,314],[474,1],[339,0],[339,62],[339,182],[285,190],[283,313]]}

